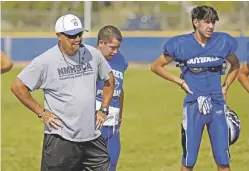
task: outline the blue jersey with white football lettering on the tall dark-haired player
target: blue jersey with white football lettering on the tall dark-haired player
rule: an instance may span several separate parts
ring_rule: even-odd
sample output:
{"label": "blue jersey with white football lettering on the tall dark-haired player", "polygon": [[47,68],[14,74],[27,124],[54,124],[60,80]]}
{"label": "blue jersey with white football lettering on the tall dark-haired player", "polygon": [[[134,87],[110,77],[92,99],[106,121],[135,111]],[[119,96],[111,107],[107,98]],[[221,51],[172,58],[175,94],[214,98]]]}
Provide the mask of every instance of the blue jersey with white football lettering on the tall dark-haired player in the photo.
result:
{"label": "blue jersey with white football lettering on the tall dark-haired player", "polygon": [[[235,53],[237,47],[236,39],[226,33],[214,32],[204,47],[196,41],[194,33],[191,33],[171,38],[164,45],[163,53],[176,62],[185,62],[188,67],[203,68],[221,65],[226,57]],[[210,95],[214,100],[224,103],[220,72],[193,73],[187,67],[181,67],[181,71],[193,91],[193,95],[187,94],[185,102]]]}

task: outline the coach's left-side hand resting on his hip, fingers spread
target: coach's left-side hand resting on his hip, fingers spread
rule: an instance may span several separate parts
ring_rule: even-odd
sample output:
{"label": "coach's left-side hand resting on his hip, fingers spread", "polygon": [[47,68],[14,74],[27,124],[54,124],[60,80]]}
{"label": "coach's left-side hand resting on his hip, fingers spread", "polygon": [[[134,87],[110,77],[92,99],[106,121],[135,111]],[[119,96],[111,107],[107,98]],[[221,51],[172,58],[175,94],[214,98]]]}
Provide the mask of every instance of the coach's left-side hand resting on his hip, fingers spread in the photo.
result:
{"label": "coach's left-side hand resting on his hip, fingers spread", "polygon": [[43,123],[48,127],[53,126],[56,129],[59,129],[61,126],[58,122],[58,118],[48,110],[44,110],[40,116],[38,116]]}

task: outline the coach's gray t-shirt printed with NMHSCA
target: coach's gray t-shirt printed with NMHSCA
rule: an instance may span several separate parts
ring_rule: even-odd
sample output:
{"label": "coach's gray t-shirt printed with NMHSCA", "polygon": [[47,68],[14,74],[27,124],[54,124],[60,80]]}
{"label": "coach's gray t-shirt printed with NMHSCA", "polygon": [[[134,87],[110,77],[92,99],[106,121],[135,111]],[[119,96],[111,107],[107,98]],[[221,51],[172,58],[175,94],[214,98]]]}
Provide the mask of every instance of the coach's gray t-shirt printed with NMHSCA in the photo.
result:
{"label": "coach's gray t-shirt printed with NMHSCA", "polygon": [[45,133],[83,142],[101,134],[95,129],[96,81],[108,80],[110,72],[96,48],[84,45],[69,58],[56,45],[33,59],[17,77],[31,91],[43,89],[45,108],[59,118],[62,128],[45,125]]}

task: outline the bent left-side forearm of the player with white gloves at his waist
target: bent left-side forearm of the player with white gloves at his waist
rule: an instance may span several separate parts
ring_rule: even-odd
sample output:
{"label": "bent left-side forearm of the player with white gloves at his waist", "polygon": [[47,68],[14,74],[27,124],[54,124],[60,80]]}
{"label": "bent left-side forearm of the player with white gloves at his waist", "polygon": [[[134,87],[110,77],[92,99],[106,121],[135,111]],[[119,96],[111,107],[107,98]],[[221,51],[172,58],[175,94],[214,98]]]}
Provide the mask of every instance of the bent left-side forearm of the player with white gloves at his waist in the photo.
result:
{"label": "bent left-side forearm of the player with white gloves at his waist", "polygon": [[151,68],[152,72],[156,73],[160,77],[169,80],[173,83],[176,83],[178,85],[181,85],[181,83],[184,81],[181,78],[171,74],[168,72],[163,66],[155,66]]}

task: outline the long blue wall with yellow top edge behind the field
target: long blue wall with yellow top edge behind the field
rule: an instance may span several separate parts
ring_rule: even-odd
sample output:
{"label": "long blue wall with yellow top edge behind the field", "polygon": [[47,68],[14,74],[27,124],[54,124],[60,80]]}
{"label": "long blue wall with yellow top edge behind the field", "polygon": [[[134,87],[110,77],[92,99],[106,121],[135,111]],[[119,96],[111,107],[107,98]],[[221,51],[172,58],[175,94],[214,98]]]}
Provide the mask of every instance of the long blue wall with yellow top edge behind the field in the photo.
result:
{"label": "long blue wall with yellow top edge behind the field", "polygon": [[[152,62],[161,53],[162,47],[170,37],[124,37],[120,51],[129,62]],[[249,37],[236,38],[239,48],[236,51],[240,61],[249,56]],[[84,43],[96,45],[96,38],[85,38]],[[11,58],[14,61],[32,60],[45,50],[56,45],[56,38],[12,38]],[[5,39],[1,38],[1,49]]]}

